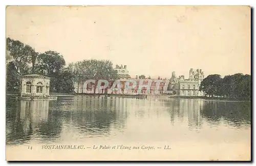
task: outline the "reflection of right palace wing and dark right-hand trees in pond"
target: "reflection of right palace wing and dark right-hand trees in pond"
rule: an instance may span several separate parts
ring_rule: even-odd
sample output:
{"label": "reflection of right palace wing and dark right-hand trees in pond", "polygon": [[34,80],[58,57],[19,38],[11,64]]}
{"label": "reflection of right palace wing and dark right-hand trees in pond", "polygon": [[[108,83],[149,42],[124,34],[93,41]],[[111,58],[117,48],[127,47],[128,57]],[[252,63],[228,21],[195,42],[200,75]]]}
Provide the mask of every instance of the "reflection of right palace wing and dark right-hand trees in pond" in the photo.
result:
{"label": "reflection of right palace wing and dark right-hand trees in pond", "polygon": [[[246,127],[251,123],[250,102],[210,101],[204,99],[162,99],[169,108],[170,122],[187,122],[189,129],[201,129],[206,120],[210,125]],[[185,119],[184,119],[185,118]],[[225,121],[225,122],[224,122]],[[199,131],[199,130],[198,130]]]}

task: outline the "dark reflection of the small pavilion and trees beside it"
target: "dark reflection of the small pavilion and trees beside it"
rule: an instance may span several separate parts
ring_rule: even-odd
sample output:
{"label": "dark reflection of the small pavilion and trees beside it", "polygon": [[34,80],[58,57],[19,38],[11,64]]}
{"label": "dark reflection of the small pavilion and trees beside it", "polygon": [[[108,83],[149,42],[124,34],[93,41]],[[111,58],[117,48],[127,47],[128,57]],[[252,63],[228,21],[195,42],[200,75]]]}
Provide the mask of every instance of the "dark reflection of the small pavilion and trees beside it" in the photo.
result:
{"label": "dark reflection of the small pavilion and trees beside it", "polygon": [[49,112],[49,100],[12,100],[7,102],[7,143],[26,143],[32,135],[46,140],[61,132],[60,121]]}

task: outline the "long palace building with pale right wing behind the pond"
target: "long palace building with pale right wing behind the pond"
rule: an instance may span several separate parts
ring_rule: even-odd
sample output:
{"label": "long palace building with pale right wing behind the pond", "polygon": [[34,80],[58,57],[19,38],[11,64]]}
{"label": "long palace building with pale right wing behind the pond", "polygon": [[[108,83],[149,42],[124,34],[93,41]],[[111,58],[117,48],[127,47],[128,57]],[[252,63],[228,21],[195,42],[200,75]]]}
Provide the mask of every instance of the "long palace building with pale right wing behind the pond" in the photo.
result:
{"label": "long palace building with pale right wing behind the pond", "polygon": [[[168,95],[177,95],[177,96],[204,96],[204,93],[199,90],[201,81],[204,79],[204,72],[201,69],[190,69],[189,70],[189,77],[185,79],[184,75],[181,75],[179,77],[176,77],[175,71],[172,72],[172,77],[167,79],[162,79],[162,82],[160,82],[160,85],[158,87],[158,84],[155,79],[136,79],[131,78],[129,71],[127,70],[126,65],[116,65],[114,68],[117,71],[118,74],[118,81],[120,82],[120,92],[118,90],[112,91],[112,86],[114,84],[113,81],[109,81],[109,86],[105,88],[104,90],[98,90],[95,88],[94,84],[89,83],[87,88],[83,87],[82,84],[79,84],[79,87],[77,83],[75,82],[75,89],[74,91],[76,93],[95,93],[96,94],[147,94],[147,95],[167,95],[167,92],[164,90],[168,90],[171,93],[168,92]],[[133,84],[136,84],[132,89],[125,89],[126,82],[129,80],[133,80],[129,83],[129,87],[131,87]],[[142,85],[139,86],[141,81],[143,81]],[[135,83],[136,82],[136,83]],[[97,83],[96,83],[97,84]],[[150,85],[148,85],[150,84]],[[148,86],[147,86],[148,85]],[[102,82],[101,86],[104,86],[104,83]],[[165,88],[166,87],[166,88]]]}

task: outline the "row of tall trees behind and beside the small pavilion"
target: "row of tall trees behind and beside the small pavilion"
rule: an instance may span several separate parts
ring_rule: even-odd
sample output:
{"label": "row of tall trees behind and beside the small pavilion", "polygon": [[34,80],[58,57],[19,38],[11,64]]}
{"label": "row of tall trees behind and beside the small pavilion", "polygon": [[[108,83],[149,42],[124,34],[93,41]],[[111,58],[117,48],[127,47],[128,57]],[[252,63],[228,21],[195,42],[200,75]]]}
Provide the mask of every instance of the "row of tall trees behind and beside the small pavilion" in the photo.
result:
{"label": "row of tall trees behind and beside the small pavilion", "polygon": [[[73,92],[74,82],[88,79],[115,79],[117,72],[109,60],[83,60],[66,65],[62,54],[48,50],[36,52],[31,46],[6,39],[6,90],[17,93],[20,78],[27,74],[50,77],[50,92]],[[96,86],[95,86],[96,87]]]}

